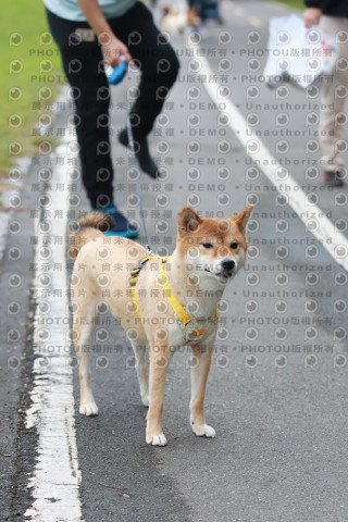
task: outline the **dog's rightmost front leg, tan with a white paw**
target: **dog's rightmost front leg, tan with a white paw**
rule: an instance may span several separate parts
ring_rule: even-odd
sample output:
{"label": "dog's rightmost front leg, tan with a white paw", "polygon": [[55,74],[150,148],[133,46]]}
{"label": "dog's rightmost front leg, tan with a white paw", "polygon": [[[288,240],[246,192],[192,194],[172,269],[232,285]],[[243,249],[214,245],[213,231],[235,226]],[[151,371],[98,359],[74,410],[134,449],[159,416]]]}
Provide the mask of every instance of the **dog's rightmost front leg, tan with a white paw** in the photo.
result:
{"label": "dog's rightmost front leg, tan with a white paw", "polygon": [[190,424],[195,434],[202,437],[214,437],[215,430],[206,423],[204,396],[211,365],[212,346],[192,347],[194,364],[191,366]]}

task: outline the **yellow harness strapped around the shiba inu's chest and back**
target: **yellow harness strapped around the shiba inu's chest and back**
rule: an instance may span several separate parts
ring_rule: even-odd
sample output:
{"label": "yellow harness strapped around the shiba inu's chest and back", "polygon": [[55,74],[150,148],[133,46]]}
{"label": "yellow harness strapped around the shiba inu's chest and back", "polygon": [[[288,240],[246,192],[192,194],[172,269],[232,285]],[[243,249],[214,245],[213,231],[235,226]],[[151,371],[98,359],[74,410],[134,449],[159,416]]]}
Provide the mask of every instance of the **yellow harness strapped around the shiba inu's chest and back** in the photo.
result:
{"label": "yellow harness strapped around the shiba inu's chest and back", "polygon": [[133,297],[133,302],[134,302],[136,312],[138,314],[138,318],[141,320],[141,315],[138,307],[138,300],[137,300],[137,293],[136,293],[136,284],[137,284],[139,272],[150,259],[161,259],[162,260],[162,265],[161,265],[162,286],[164,289],[164,294],[174,311],[175,320],[179,325],[181,331],[183,332],[185,343],[187,344],[199,343],[200,340],[203,340],[206,337],[208,337],[208,335],[210,335],[210,333],[215,328],[219,322],[220,310],[217,308],[214,315],[208,319],[197,319],[190,315],[186,311],[185,307],[183,307],[178,302],[173,291],[171,290],[170,285],[167,284],[167,277],[165,275],[165,263],[170,258],[171,258],[170,256],[165,258],[161,258],[160,256],[146,256],[140,261],[140,263],[134,270],[132,270],[129,283],[130,283],[132,297]]}

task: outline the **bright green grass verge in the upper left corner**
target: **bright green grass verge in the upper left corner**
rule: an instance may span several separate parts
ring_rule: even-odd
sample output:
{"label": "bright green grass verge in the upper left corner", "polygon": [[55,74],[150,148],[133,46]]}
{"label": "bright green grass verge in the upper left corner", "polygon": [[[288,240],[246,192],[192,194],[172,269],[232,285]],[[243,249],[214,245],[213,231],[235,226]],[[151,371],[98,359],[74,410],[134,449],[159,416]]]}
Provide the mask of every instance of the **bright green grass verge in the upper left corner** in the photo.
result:
{"label": "bright green grass verge in the upper left corner", "polygon": [[40,0],[7,2],[0,17],[0,177],[17,158],[38,151],[36,127],[47,121],[50,103],[65,82],[58,49]]}

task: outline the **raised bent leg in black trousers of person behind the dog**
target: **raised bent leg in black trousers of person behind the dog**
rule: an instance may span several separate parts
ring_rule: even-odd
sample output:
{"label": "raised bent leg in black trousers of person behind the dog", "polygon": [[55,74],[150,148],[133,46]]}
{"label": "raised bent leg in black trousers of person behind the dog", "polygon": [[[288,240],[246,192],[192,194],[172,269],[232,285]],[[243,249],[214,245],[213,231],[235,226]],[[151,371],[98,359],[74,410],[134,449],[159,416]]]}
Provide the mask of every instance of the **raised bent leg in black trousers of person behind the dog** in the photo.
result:
{"label": "raised bent leg in black trousers of person behind the dog", "polygon": [[[141,2],[109,23],[141,71],[139,96],[130,109],[129,121],[140,166],[156,177],[157,165],[149,154],[147,135],[176,79],[179,63],[173,48],[156,27],[152,14]],[[120,141],[128,145],[126,129],[121,133]]]}

